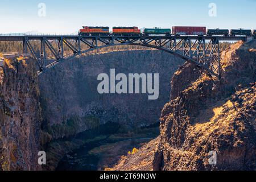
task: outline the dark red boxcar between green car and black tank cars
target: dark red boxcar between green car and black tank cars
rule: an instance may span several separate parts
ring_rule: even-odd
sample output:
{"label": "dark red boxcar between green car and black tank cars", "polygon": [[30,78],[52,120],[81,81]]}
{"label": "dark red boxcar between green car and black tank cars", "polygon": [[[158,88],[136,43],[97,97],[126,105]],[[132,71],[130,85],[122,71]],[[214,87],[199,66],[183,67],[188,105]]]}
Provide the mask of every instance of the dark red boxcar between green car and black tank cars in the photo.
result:
{"label": "dark red boxcar between green car and black tank cars", "polygon": [[206,27],[172,27],[174,35],[205,35]]}

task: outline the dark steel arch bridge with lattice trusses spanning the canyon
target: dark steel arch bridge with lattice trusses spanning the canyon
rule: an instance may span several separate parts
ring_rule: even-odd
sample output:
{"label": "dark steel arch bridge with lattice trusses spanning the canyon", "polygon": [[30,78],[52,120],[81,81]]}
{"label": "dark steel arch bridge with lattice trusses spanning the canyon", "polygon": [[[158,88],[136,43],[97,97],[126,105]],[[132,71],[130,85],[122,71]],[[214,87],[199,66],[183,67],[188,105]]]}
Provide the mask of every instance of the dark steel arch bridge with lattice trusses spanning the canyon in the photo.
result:
{"label": "dark steel arch bridge with lattice trusses spanning the canyon", "polygon": [[[55,65],[70,60],[83,53],[109,46],[144,46],[159,49],[181,59],[195,63],[204,69],[210,76],[220,78],[221,57],[220,41],[242,40],[246,37],[225,36],[0,36],[0,41],[22,41],[23,53],[30,51],[38,63],[38,75],[46,72]],[[40,42],[40,48],[32,43]],[[57,46],[53,46],[53,42]],[[65,53],[64,46],[69,54]],[[49,59],[46,48],[53,55]],[[67,52],[67,51],[66,51]]]}

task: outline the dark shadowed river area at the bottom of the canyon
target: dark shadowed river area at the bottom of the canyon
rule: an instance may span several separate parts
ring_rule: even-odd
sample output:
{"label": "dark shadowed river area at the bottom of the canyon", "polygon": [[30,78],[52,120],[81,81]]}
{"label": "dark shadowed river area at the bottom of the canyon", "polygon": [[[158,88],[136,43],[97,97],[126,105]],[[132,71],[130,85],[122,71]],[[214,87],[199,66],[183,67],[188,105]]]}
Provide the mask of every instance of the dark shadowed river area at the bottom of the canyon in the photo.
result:
{"label": "dark shadowed river area at the bottom of the canyon", "polygon": [[158,123],[139,129],[138,133],[118,133],[116,123],[107,123],[98,129],[85,131],[76,139],[87,140],[81,147],[60,160],[57,171],[94,171],[113,167],[122,155],[134,147],[141,147],[158,135]]}

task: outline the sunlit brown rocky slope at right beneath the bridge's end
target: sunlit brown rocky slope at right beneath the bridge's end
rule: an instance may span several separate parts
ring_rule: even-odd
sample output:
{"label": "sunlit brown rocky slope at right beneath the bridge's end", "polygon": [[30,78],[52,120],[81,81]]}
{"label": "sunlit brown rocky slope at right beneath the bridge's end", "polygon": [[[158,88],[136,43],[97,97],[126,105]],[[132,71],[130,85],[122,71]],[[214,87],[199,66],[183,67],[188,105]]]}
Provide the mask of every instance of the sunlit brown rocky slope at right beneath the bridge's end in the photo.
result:
{"label": "sunlit brown rocky slope at right beneath the bridge's end", "polygon": [[[238,42],[222,59],[220,81],[180,67],[160,136],[113,170],[256,170],[256,42]],[[211,151],[217,164],[209,163]]]}

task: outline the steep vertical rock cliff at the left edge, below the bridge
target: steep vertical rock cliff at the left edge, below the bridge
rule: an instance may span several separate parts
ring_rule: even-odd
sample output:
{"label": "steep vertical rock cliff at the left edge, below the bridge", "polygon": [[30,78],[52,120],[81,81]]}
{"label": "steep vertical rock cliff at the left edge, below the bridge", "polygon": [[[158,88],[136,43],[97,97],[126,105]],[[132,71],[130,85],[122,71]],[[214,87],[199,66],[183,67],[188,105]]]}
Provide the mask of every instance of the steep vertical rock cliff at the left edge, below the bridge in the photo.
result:
{"label": "steep vertical rock cliff at the left edge, below the bridge", "polygon": [[0,67],[0,171],[38,170],[39,89],[23,57]]}

